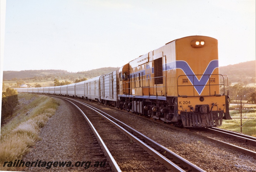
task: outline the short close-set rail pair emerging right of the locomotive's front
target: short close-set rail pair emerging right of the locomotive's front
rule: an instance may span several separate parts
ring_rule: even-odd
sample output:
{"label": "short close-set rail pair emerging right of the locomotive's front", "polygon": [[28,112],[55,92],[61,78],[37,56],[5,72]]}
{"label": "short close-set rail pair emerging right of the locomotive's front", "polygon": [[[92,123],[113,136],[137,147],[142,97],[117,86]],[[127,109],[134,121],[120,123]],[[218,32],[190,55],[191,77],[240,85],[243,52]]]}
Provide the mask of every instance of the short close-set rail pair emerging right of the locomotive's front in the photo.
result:
{"label": "short close-set rail pair emerging right of the locomotive's front", "polygon": [[214,132],[214,133],[220,133],[220,134],[226,135],[228,137],[233,137],[233,138],[236,138],[238,140],[247,142],[247,143],[252,144],[252,145],[256,145],[256,137],[247,136],[247,135],[244,135],[244,134],[241,134],[241,133],[236,133],[236,132],[233,132],[233,131],[228,131],[228,130],[225,130],[225,129],[219,129],[219,128],[215,128],[215,127],[207,128],[207,130],[209,130],[211,132]]}

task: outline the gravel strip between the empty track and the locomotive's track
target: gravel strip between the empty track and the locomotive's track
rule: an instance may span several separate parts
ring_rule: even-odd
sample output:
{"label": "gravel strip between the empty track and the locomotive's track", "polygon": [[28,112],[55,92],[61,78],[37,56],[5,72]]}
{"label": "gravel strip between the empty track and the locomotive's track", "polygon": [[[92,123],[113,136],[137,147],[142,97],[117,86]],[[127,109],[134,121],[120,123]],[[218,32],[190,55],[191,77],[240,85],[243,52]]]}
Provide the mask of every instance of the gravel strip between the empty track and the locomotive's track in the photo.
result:
{"label": "gravel strip between the empty track and the locomotive's track", "polygon": [[256,160],[241,152],[165,127],[139,115],[113,110],[99,104],[93,106],[97,106],[205,171],[256,171]]}

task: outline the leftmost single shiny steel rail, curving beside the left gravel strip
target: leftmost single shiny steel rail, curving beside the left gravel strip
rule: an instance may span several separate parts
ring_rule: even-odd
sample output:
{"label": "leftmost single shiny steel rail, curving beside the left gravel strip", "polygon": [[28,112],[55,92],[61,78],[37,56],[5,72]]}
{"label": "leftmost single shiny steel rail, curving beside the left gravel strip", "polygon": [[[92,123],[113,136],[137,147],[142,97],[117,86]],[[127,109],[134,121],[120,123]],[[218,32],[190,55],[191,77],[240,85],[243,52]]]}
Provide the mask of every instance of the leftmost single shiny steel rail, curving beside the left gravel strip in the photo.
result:
{"label": "leftmost single shiny steel rail, curving beside the left gravel strip", "polygon": [[[55,96],[54,96],[55,97]],[[57,98],[61,98],[56,96]],[[64,100],[67,100],[67,98],[62,98]],[[69,100],[67,100],[69,101]],[[99,133],[97,132],[97,130],[94,128],[94,126],[92,125],[92,122],[87,118],[87,116],[84,114],[84,112],[78,107],[76,106],[73,102],[69,101],[70,103],[72,103],[83,115],[84,118],[86,119],[86,121],[88,122],[88,124],[90,125],[92,132],[94,133],[94,135],[96,136],[101,148],[103,149],[103,152],[108,160],[109,165],[111,166],[112,170],[115,172],[121,172],[121,169],[119,168],[119,166],[116,163],[116,160],[113,158],[113,156],[111,155],[111,153],[108,150],[108,147],[105,145],[105,143],[103,142],[103,140],[101,139]]]}

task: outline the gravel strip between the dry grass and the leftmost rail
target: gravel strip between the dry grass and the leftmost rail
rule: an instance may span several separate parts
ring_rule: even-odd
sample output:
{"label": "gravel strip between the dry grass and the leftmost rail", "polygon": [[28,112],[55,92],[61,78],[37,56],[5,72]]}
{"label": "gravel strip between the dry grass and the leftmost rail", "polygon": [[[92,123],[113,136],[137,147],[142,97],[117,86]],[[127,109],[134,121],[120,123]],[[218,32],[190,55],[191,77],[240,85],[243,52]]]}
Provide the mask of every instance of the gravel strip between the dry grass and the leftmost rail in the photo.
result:
{"label": "gravel strip between the dry grass and the leftmost rail", "polygon": [[[70,103],[60,100],[60,106],[44,128],[41,130],[41,141],[36,142],[31,151],[25,155],[23,161],[40,160],[48,162],[71,161],[73,167],[26,167],[22,171],[111,171],[108,164],[104,167],[94,167],[96,161],[106,161],[102,158],[102,151],[97,145],[88,143],[91,133],[86,129],[86,121],[81,113]],[[88,135],[89,134],[89,135]],[[91,142],[91,141],[90,141]],[[99,155],[99,156],[98,156]],[[75,167],[77,161],[91,161],[83,167]],[[38,164],[38,163],[37,163]],[[77,163],[76,165],[78,165]],[[50,166],[50,164],[48,164]],[[89,166],[88,166],[89,165]],[[93,167],[92,167],[93,165]],[[85,169],[88,167],[88,169]]]}

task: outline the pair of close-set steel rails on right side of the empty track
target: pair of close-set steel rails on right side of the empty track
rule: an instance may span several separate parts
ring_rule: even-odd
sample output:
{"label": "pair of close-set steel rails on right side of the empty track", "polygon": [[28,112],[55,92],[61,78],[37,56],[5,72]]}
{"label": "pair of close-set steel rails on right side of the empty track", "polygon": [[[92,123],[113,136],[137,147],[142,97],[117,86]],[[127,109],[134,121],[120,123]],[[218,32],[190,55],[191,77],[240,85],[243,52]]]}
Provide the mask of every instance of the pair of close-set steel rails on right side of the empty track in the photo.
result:
{"label": "pair of close-set steel rails on right side of the empty track", "polygon": [[[120,128],[128,137],[130,137],[131,139],[133,139],[136,143],[138,143],[140,146],[142,146],[145,150],[148,151],[149,154],[151,154],[152,156],[154,156],[159,162],[163,163],[167,168],[172,169],[173,171],[184,171],[183,169],[181,169],[180,167],[178,167],[176,164],[174,164],[172,161],[168,160],[166,157],[164,157],[162,154],[160,154],[159,152],[157,152],[155,149],[153,149],[152,147],[148,146],[147,144],[145,144],[143,141],[141,141],[139,138],[140,137],[142,139],[147,140],[147,142],[149,144],[151,144],[152,146],[155,146],[157,149],[160,149],[162,152],[164,152],[164,155],[168,156],[169,158],[172,158],[175,162],[182,164],[182,166],[188,168],[189,170],[192,171],[201,171],[204,172],[203,169],[197,167],[196,165],[194,165],[193,163],[189,162],[188,160],[182,158],[181,156],[177,155],[176,153],[170,151],[169,149],[165,148],[164,146],[158,144],[157,142],[155,142],[154,140],[148,138],[147,136],[141,134],[139,131],[132,129],[130,126],[124,124],[123,122],[117,120],[116,118],[108,115],[107,113],[93,107],[90,106],[86,103],[77,101],[72,99],[73,101],[76,101],[84,106],[87,106],[88,108],[96,111],[97,113],[99,113],[100,115],[102,115],[105,119],[107,119],[108,121],[110,121],[111,123],[113,123],[116,127]],[[99,112],[98,112],[99,111]],[[104,113],[105,115],[101,114]],[[109,118],[111,118],[112,120],[110,120]],[[128,128],[130,131],[127,131],[126,129],[124,129],[122,126],[120,126],[119,124],[125,126],[126,128]],[[134,135],[131,134],[131,132],[135,135],[137,135],[137,137],[135,137]],[[174,168],[174,169],[173,169]]]}

